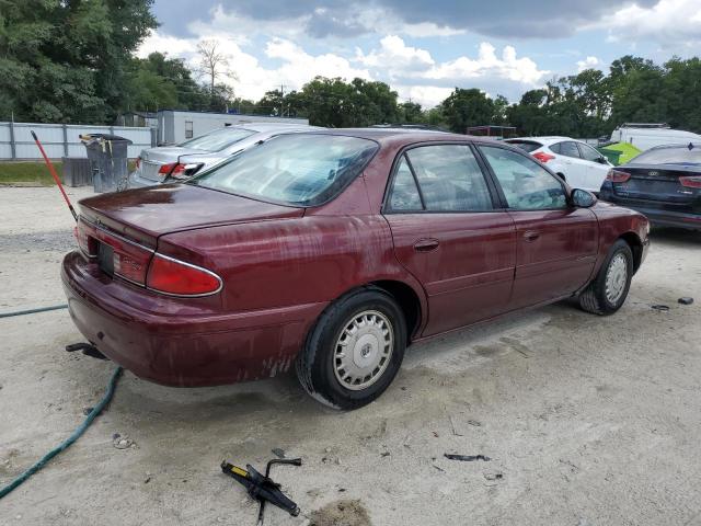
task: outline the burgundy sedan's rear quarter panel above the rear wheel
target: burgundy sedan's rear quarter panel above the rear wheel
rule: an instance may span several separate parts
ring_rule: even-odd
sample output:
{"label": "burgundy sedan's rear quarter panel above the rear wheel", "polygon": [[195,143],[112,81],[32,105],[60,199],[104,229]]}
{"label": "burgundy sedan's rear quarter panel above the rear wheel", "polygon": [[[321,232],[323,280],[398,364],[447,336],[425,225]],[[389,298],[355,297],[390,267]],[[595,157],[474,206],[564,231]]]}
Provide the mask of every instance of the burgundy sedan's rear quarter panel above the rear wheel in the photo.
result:
{"label": "burgundy sedan's rear quarter panel above the rear wheel", "polygon": [[423,301],[421,285],[397,262],[386,219],[369,211],[363,178],[343,196],[349,199],[308,209],[301,218],[165,235],[158,251],[221,276],[226,312],[329,302],[380,279],[410,285]]}

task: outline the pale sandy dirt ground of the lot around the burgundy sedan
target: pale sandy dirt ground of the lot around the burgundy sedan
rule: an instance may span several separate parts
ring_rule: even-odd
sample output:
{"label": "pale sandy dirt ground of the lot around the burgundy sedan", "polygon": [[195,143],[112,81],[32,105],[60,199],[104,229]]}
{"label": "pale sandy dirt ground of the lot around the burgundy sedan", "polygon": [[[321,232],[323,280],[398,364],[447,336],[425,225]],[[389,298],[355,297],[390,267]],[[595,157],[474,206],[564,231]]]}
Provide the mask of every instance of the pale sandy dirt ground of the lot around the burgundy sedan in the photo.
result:
{"label": "pale sandy dirt ground of the lot around the burgundy sedan", "polygon": [[[64,302],[58,193],[0,202],[0,312]],[[304,461],[273,473],[302,513],[268,507],[267,525],[699,525],[700,254],[701,235],[654,231],[616,316],[562,302],[413,346],[355,412],[294,376],[177,390],[127,373],[85,435],[0,501],[0,524],[254,525],[219,464],[262,468],[283,448]],[[114,365],[64,351],[82,341],[66,310],[0,319],[0,334],[2,485],[72,432]]]}

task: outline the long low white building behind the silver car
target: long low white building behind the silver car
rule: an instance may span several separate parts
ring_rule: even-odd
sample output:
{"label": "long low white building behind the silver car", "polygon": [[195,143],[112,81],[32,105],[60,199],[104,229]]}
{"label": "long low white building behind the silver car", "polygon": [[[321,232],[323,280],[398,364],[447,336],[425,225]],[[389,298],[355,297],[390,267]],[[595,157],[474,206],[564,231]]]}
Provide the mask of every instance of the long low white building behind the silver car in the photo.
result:
{"label": "long low white building behind the silver car", "polygon": [[232,113],[188,112],[160,110],[158,112],[158,144],[172,145],[198,137],[216,128],[245,123],[297,123],[309,124],[308,118],[268,117],[265,115],[241,115]]}

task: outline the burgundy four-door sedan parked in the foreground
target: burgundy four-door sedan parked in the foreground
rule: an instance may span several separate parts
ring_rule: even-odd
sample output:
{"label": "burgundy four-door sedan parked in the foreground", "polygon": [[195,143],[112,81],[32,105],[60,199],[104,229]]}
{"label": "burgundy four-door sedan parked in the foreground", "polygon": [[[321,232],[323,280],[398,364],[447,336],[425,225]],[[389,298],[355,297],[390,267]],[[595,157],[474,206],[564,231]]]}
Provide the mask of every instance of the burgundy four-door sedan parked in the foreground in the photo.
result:
{"label": "burgundy four-door sedan parked in the foreground", "polygon": [[80,203],[66,255],[90,342],[170,386],[292,365],[335,408],[377,398],[405,347],[577,297],[618,310],[648,222],[520,150],[461,135],[280,135],[184,184]]}

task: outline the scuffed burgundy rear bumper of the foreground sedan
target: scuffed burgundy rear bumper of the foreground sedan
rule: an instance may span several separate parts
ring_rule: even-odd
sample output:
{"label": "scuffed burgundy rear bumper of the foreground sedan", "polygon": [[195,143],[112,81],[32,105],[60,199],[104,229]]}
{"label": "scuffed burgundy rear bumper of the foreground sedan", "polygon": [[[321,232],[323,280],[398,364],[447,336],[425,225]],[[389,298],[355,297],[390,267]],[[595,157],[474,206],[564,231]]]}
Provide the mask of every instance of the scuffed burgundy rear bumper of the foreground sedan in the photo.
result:
{"label": "scuffed burgundy rear bumper of the foreground sedan", "polygon": [[104,355],[140,378],[177,387],[269,378],[290,368],[326,304],[235,313],[183,307],[105,277],[78,252],[64,259],[73,322]]}

